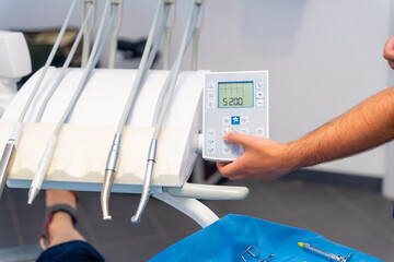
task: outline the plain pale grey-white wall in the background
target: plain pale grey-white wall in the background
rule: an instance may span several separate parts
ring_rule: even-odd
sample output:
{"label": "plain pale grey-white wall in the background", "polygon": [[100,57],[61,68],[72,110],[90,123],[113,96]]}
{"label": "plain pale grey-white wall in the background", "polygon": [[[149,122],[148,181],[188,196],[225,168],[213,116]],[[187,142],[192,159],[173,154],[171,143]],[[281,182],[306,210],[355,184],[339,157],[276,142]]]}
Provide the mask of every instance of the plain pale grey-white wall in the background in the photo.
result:
{"label": "plain pale grey-white wall in the background", "polygon": [[[0,29],[59,27],[70,2],[1,0]],[[124,4],[120,36],[146,36],[157,1]],[[172,57],[188,5],[177,1]],[[392,9],[390,0],[206,0],[198,67],[269,70],[271,138],[290,141],[393,83],[382,58]],[[320,168],[382,177],[384,157],[378,148]]]}

